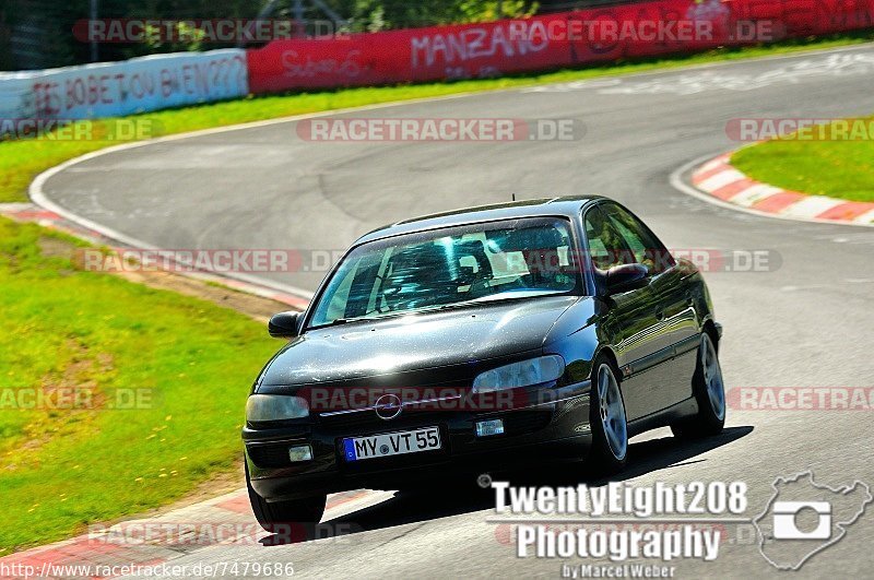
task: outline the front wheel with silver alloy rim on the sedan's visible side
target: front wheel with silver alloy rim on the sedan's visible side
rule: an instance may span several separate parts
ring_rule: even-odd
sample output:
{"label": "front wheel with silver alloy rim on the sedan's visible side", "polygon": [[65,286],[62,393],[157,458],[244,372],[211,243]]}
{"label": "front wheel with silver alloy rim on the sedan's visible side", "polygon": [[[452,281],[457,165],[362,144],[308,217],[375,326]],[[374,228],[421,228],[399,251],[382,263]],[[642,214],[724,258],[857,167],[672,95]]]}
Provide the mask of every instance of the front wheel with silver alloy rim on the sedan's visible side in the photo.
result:
{"label": "front wheel with silver alloy rim on the sedan's visible side", "polygon": [[628,457],[628,422],[618,377],[615,366],[606,357],[595,360],[589,403],[592,428],[589,462],[592,471],[600,475],[622,471]]}

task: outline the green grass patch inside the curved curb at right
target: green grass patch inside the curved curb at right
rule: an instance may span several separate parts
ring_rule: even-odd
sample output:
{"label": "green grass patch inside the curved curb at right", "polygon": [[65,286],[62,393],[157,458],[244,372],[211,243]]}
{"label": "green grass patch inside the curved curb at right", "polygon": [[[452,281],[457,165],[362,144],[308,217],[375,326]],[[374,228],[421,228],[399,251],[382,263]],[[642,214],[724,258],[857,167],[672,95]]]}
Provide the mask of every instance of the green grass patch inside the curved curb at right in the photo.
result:
{"label": "green grass patch inside the curved curb at right", "polygon": [[[866,119],[874,126],[874,117]],[[815,196],[874,202],[874,134],[858,141],[777,139],[745,147],[731,159],[765,184]]]}

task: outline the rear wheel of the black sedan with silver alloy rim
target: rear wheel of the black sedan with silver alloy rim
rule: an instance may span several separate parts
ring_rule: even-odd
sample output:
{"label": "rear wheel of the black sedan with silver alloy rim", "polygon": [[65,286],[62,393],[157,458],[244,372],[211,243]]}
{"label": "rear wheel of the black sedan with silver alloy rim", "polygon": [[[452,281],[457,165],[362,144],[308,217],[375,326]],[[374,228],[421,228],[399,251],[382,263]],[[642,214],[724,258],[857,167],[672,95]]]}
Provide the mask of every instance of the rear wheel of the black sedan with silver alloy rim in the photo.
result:
{"label": "rear wheel of the black sedan with silver alloy rim", "polygon": [[692,393],[698,403],[698,413],[671,425],[671,431],[681,439],[698,439],[722,433],[725,425],[725,382],[719,366],[717,342],[710,332],[701,333],[698,360],[692,378]]}

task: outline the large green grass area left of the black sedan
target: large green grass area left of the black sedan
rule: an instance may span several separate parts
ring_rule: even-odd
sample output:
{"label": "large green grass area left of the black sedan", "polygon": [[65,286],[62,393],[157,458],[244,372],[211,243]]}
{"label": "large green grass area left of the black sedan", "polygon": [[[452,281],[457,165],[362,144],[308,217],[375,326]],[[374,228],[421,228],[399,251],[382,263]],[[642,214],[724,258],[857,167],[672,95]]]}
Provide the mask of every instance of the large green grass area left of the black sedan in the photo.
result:
{"label": "large green grass area left of the black sedan", "polygon": [[[276,348],[244,315],[40,250],[59,237],[0,218],[0,555],[231,470],[249,386]],[[75,410],[15,409],[35,388],[96,394]],[[138,389],[140,409],[114,409]]]}

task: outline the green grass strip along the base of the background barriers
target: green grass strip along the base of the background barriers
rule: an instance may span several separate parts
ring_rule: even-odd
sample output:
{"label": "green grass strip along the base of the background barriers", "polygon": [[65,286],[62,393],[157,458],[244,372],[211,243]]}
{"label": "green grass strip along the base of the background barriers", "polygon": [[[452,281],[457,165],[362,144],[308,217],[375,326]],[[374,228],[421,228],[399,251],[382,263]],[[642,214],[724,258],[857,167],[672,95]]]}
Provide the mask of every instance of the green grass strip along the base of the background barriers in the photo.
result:
{"label": "green grass strip along the base of the background barriers", "polygon": [[[723,48],[697,55],[678,55],[636,62],[618,62],[543,74],[525,74],[501,79],[459,81],[453,83],[346,88],[320,93],[298,93],[246,98],[143,114],[129,117],[129,119],[142,120],[146,123],[152,123],[153,127],[160,127],[161,134],[172,134],[336,108],[451,95],[473,91],[494,91],[516,86],[592,79],[597,76],[630,74],[689,64],[702,64],[716,61],[830,48],[872,39],[874,39],[874,32],[865,31],[826,38],[803,38],[769,46]],[[105,132],[104,125],[105,123],[102,121],[95,122],[95,137],[99,137]],[[113,144],[115,143],[111,141],[101,140],[22,140],[0,142],[0,202],[24,201],[26,199],[27,186],[39,173],[67,159]]]}

